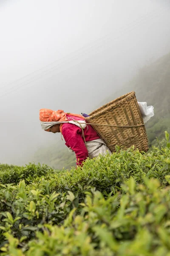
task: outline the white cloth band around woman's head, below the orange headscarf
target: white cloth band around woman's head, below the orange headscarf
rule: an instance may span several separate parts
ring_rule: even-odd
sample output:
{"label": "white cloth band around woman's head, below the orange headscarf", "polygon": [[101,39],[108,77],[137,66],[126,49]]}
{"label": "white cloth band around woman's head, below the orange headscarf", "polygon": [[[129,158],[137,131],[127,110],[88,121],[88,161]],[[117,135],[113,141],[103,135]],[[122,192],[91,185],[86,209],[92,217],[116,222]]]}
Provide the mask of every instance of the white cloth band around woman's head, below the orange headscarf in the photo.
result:
{"label": "white cloth band around woman's head, below the orange headscarf", "polygon": [[63,123],[71,123],[83,129],[86,127],[85,120],[71,120],[71,121],[64,121],[64,122],[40,122],[42,130],[48,130],[53,125],[63,124]]}

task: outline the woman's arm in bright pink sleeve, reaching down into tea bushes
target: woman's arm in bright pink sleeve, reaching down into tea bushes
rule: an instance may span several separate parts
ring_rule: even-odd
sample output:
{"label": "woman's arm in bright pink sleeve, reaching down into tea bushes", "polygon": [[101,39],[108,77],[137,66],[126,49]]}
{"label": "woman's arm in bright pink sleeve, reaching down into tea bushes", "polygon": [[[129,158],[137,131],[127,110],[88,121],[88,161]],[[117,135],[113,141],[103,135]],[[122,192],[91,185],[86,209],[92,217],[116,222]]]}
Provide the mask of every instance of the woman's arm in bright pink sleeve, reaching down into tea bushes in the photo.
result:
{"label": "woman's arm in bright pink sleeve, reaching down into tea bushes", "polygon": [[88,157],[88,150],[82,138],[82,130],[77,125],[63,125],[62,135],[65,139],[65,144],[75,152],[77,165],[82,165],[83,161]]}

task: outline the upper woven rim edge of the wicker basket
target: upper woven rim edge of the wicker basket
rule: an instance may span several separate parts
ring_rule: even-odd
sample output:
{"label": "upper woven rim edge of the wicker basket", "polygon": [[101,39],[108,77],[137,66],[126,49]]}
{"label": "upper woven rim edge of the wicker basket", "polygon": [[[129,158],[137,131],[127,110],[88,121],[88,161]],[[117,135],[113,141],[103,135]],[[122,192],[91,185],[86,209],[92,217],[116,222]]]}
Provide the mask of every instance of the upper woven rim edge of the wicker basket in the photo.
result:
{"label": "upper woven rim edge of the wicker basket", "polygon": [[117,108],[119,105],[123,105],[125,102],[130,101],[131,99],[136,99],[135,92],[132,91],[130,93],[126,93],[125,95],[120,96],[119,98],[114,99],[113,101],[103,105],[100,108],[97,108],[96,110],[92,111],[89,114],[89,117],[86,117],[85,119],[91,119],[95,116],[99,116],[102,113],[105,113],[107,111],[110,111],[112,108]]}

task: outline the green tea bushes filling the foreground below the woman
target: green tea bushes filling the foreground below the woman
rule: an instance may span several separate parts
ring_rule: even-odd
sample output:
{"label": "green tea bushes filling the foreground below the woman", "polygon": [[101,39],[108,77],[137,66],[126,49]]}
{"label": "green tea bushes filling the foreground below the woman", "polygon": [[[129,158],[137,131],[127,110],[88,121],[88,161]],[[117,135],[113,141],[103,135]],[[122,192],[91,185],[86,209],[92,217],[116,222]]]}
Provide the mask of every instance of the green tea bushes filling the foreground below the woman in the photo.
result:
{"label": "green tea bushes filling the foreground below the woman", "polygon": [[170,256],[170,143],[82,168],[0,165],[0,255]]}

